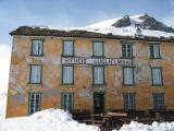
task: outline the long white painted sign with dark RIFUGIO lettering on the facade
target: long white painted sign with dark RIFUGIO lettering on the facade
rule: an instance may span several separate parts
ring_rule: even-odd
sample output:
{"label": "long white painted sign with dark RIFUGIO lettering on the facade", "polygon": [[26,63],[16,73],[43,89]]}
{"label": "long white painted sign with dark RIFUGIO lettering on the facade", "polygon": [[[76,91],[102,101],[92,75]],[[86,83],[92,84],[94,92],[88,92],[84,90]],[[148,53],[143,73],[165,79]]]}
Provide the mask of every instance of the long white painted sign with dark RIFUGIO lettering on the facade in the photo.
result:
{"label": "long white painted sign with dark RIFUGIO lettering on the facade", "polygon": [[62,57],[62,64],[133,66],[130,59]]}

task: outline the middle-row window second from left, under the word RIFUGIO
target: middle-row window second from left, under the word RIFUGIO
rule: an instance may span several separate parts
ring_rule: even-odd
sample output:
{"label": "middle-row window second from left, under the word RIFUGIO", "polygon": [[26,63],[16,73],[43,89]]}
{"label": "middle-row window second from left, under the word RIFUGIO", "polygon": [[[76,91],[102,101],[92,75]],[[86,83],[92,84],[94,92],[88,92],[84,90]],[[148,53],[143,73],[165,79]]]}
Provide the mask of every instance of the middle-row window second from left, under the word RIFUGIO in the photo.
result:
{"label": "middle-row window second from left, under the word RIFUGIO", "polygon": [[73,84],[74,83],[74,67],[63,66],[62,67],[62,84]]}

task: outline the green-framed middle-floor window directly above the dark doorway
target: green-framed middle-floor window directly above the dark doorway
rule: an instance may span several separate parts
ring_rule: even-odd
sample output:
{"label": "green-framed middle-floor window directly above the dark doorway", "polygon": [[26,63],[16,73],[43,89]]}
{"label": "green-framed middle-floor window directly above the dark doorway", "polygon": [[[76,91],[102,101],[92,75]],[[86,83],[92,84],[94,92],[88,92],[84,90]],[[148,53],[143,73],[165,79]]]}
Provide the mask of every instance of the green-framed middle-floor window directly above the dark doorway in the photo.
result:
{"label": "green-framed middle-floor window directly above the dark doorway", "polygon": [[101,85],[104,84],[104,67],[94,67],[92,69],[92,84]]}

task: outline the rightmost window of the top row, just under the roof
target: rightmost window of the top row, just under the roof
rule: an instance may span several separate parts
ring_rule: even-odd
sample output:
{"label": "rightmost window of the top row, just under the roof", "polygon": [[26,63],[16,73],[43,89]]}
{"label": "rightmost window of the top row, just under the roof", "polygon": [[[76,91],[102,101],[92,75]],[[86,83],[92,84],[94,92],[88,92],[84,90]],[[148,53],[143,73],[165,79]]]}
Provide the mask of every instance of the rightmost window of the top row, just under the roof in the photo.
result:
{"label": "rightmost window of the top row, just under the roof", "polygon": [[160,56],[160,45],[150,45],[150,58],[158,59]]}

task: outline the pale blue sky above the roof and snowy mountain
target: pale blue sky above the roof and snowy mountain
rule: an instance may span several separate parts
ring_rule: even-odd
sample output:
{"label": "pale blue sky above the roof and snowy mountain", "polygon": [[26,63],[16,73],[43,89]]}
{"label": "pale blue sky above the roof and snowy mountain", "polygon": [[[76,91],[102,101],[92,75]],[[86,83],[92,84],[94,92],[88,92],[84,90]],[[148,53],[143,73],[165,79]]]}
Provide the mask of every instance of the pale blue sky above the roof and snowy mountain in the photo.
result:
{"label": "pale blue sky above the roof and snowy mountain", "polygon": [[0,0],[0,44],[21,25],[86,26],[126,14],[148,13],[174,26],[174,0]]}

